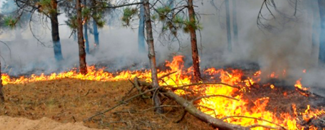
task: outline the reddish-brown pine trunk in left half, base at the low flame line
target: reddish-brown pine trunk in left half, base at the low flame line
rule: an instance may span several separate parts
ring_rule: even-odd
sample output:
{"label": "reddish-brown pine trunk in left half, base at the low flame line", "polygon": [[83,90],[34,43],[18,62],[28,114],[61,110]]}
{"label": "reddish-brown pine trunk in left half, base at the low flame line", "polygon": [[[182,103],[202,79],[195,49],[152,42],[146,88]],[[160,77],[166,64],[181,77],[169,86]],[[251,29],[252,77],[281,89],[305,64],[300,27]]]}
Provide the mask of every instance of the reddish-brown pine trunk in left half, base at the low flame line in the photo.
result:
{"label": "reddish-brown pine trunk in left half, base at the low flame line", "polygon": [[76,1],[76,9],[77,9],[77,31],[78,31],[78,46],[79,46],[79,67],[81,74],[87,74],[87,65],[86,65],[86,52],[85,52],[85,43],[83,39],[82,32],[82,14],[81,14],[81,0]]}

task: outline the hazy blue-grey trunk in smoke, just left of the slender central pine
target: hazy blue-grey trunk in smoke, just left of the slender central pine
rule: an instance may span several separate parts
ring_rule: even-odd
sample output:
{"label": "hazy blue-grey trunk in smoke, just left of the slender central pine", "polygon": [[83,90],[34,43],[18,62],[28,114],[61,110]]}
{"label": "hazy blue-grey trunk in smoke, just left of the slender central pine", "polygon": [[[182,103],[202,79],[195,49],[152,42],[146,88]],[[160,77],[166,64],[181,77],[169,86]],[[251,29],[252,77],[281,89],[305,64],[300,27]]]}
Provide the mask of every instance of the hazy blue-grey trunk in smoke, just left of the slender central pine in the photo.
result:
{"label": "hazy blue-grey trunk in smoke, just left of the slender central pine", "polygon": [[[141,0],[140,2],[143,2]],[[144,7],[140,5],[140,19],[139,19],[139,32],[138,32],[138,47],[139,52],[145,52],[145,38],[144,38]]]}

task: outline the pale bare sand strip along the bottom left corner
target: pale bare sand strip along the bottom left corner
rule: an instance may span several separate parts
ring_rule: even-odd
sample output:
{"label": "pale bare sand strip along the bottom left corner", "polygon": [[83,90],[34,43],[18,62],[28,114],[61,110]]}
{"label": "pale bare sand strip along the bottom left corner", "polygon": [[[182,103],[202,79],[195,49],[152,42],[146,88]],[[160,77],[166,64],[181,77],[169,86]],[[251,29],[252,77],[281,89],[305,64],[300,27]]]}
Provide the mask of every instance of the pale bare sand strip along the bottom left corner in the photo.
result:
{"label": "pale bare sand strip along the bottom left corner", "polygon": [[9,116],[0,116],[0,129],[2,130],[11,130],[11,129],[83,129],[83,130],[88,130],[88,129],[93,129],[93,128],[88,128],[84,125],[82,125],[81,122],[76,122],[76,123],[59,123],[54,120],[51,120],[47,117],[43,117],[40,120],[30,120],[26,118],[14,118],[14,117],[9,117]]}

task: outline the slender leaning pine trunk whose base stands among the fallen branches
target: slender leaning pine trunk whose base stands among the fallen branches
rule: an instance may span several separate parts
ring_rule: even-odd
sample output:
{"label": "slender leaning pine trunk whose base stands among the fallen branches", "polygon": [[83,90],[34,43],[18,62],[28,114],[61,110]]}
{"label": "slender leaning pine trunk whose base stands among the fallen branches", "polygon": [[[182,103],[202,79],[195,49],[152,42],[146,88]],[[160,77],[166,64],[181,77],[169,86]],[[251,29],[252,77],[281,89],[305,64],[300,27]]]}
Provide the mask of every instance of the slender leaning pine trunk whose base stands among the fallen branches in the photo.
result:
{"label": "slender leaning pine trunk whose base stands among the fallen branches", "polygon": [[[152,36],[152,26],[151,26],[151,18],[150,18],[150,7],[149,7],[149,0],[144,0],[144,15],[145,15],[145,24],[146,24],[146,32],[147,32],[147,44],[148,44],[148,57],[151,69],[151,79],[152,79],[152,86],[158,88],[158,76],[157,76],[157,67],[156,67],[156,56],[154,52],[154,44],[153,44],[153,36]],[[155,92],[153,95],[153,101],[155,112],[163,113],[164,110],[160,106],[160,98],[157,95],[158,92]]]}

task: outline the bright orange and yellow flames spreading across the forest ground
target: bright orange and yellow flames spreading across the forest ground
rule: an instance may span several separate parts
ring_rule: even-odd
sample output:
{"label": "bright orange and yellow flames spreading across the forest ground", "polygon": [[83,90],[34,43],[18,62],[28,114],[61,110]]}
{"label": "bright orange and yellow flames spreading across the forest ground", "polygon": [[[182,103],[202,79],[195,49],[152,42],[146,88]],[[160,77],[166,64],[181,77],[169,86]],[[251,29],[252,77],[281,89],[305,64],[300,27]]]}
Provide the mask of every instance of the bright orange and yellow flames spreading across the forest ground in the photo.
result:
{"label": "bright orange and yellow flames spreading across the forest ground", "polygon": [[[183,56],[175,56],[173,61],[166,61],[166,67],[170,70],[158,71],[158,77],[166,74],[173,73],[163,80],[159,81],[161,85],[186,85],[191,83],[191,72],[192,68],[184,68]],[[285,71],[284,71],[285,72]],[[204,74],[209,76],[213,80],[220,80],[222,83],[229,85],[239,86],[241,89],[237,89],[228,85],[203,85],[194,86],[193,89],[198,89],[201,91],[202,95],[224,95],[229,97],[234,97],[234,99],[227,99],[224,97],[211,97],[208,99],[202,99],[197,103],[198,108],[206,114],[222,119],[225,122],[239,124],[243,126],[250,126],[252,124],[259,124],[261,126],[270,127],[282,127],[284,129],[317,129],[317,127],[310,126],[304,127],[297,123],[299,118],[297,116],[302,116],[304,120],[310,120],[311,118],[317,117],[319,115],[325,114],[324,110],[314,110],[310,106],[303,112],[297,112],[296,105],[292,104],[292,109],[294,114],[290,113],[280,113],[269,111],[266,109],[268,106],[269,97],[260,98],[253,101],[254,107],[248,107],[247,104],[252,101],[245,99],[245,91],[249,89],[253,84],[259,82],[261,71],[257,71],[252,77],[243,79],[244,73],[241,70],[230,69],[215,69],[210,68],[204,71]],[[10,78],[9,75],[3,75],[3,84],[23,84],[28,82],[55,80],[62,78],[76,78],[81,80],[95,80],[95,81],[118,81],[118,80],[128,80],[135,77],[146,79],[150,81],[151,78],[150,71],[123,71],[119,73],[108,73],[103,69],[96,70],[94,67],[88,67],[88,74],[79,74],[76,70],[63,72],[59,74],[46,75],[31,75],[29,78],[20,77],[17,79]],[[215,77],[219,78],[216,79]],[[271,77],[276,77],[274,73]],[[269,85],[272,89],[276,88],[273,84]],[[301,79],[297,80],[295,87],[308,90],[304,88],[301,84]],[[184,94],[181,90],[176,92],[177,94]],[[286,95],[285,93],[284,95]],[[265,127],[255,127],[255,129],[267,129]]]}

